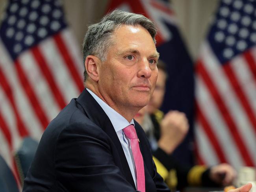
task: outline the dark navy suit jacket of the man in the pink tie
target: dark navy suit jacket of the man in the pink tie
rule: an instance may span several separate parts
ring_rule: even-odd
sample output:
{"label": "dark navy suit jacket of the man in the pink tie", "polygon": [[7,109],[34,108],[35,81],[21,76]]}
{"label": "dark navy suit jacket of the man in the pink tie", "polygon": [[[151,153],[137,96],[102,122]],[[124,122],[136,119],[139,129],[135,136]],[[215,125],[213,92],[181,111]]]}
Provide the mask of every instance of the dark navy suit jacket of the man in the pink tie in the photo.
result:
{"label": "dark navy suit jacket of the man in the pink tie", "polygon": [[[135,122],[147,192],[169,191],[156,172],[143,129]],[[24,192],[132,192],[134,180],[108,116],[85,89],[46,128]]]}

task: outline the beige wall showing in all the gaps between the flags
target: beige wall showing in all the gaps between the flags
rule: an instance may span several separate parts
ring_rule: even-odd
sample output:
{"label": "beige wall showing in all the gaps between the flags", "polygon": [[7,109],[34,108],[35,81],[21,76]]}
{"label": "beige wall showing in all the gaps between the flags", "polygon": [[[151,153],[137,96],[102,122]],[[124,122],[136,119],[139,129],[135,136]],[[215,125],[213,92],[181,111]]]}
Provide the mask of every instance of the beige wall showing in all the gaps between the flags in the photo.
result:
{"label": "beige wall showing in all the gaps between the flags", "polygon": [[[0,0],[0,13],[7,0]],[[219,0],[171,0],[180,31],[193,59],[197,58],[200,43],[208,29],[210,16]],[[108,0],[63,0],[67,20],[82,44],[87,25],[100,19],[106,11]],[[2,14],[1,14],[2,15]]]}

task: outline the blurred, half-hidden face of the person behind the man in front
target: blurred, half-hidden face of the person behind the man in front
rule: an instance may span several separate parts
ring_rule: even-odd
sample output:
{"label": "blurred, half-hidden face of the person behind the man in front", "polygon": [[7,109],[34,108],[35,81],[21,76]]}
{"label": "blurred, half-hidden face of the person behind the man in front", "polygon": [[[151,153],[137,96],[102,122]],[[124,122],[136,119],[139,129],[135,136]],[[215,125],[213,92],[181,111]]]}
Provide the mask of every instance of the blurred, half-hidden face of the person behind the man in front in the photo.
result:
{"label": "blurred, half-hidden face of the person behind the man in front", "polygon": [[156,81],[156,88],[148,103],[148,113],[152,114],[159,109],[163,103],[163,97],[165,94],[165,81],[166,74],[163,70],[158,70],[158,79]]}

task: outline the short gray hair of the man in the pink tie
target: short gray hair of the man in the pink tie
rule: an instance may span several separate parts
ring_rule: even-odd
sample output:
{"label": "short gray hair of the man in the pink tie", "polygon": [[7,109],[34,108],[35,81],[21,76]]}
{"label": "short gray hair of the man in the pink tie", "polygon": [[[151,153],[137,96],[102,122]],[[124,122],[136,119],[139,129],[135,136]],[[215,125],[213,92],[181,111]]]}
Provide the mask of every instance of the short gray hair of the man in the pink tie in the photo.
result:
{"label": "short gray hair of the man in the pink tie", "polygon": [[[152,20],[140,14],[116,9],[104,16],[100,22],[89,26],[83,39],[83,63],[88,55],[95,55],[101,61],[106,61],[108,50],[114,44],[113,33],[122,25],[141,25],[150,33],[156,44],[157,28]],[[86,69],[84,69],[83,77],[86,81]]]}

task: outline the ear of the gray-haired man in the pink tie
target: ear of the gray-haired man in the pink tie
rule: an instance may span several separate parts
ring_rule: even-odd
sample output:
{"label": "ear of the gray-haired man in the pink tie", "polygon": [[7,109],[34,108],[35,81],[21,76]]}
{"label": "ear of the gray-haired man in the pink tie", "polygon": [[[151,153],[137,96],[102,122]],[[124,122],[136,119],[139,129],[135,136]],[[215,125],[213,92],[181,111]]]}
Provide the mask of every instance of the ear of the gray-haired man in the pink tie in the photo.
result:
{"label": "ear of the gray-haired man in the pink tie", "polygon": [[93,79],[93,81],[98,82],[98,65],[100,65],[100,59],[93,55],[88,55],[85,59],[85,68],[88,76]]}

